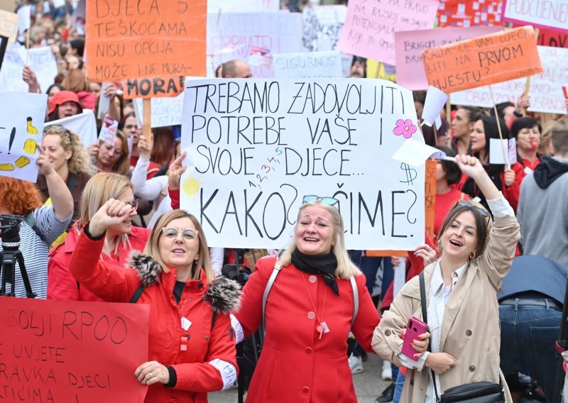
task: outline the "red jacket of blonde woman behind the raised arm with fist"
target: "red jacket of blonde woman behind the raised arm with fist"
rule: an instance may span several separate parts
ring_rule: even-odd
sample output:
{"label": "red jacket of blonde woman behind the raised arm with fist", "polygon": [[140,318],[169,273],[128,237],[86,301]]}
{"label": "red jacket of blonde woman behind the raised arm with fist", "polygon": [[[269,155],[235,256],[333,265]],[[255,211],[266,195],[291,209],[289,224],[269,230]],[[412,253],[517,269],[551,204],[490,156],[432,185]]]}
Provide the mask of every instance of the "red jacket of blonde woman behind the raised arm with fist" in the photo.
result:
{"label": "red jacket of blonde woman behind the raised arm with fist", "polygon": [[[132,227],[129,234],[129,241],[131,248],[124,248],[119,245],[118,255],[102,255],[97,256],[97,260],[101,259],[104,262],[112,262],[114,265],[126,267],[129,261],[131,250],[144,250],[148,238],[150,238],[151,230],[147,228]],[[72,226],[69,235],[65,238],[65,242],[56,246],[49,253],[48,262],[48,299],[60,299],[64,301],[102,301],[103,299],[90,292],[85,287],[82,287],[75,277],[69,271],[71,265],[71,257],[73,250],[77,248],[79,241],[79,233],[75,230],[75,225]]]}

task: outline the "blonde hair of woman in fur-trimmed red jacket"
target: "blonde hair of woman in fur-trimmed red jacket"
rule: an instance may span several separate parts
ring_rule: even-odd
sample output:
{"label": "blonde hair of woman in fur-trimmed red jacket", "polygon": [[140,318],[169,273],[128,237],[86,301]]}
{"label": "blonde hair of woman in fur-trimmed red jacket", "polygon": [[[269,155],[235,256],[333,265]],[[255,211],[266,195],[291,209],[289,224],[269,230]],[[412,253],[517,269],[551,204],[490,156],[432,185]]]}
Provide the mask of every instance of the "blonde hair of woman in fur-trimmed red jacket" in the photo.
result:
{"label": "blonde hair of woman in fur-trimmed red jacket", "polygon": [[197,230],[197,241],[200,243],[200,247],[198,250],[199,258],[197,258],[197,262],[195,263],[195,268],[197,270],[193,270],[192,278],[194,280],[199,279],[200,277],[200,270],[199,267],[203,267],[205,271],[205,275],[207,276],[207,280],[209,282],[215,279],[215,272],[213,271],[213,267],[211,266],[211,258],[209,258],[209,248],[207,247],[207,239],[205,238],[205,234],[203,232],[203,228],[200,225],[200,222],[197,221],[195,216],[192,214],[187,213],[184,210],[174,210],[168,211],[168,213],[164,213],[160,216],[158,221],[155,223],[154,228],[152,229],[152,233],[150,235],[150,239],[148,243],[146,243],[146,248],[144,248],[144,253],[148,256],[151,256],[153,260],[160,263],[162,269],[165,272],[168,272],[168,267],[162,260],[162,256],[160,255],[160,238],[163,236],[162,229],[165,226],[168,226],[170,222],[176,219],[190,219]]}

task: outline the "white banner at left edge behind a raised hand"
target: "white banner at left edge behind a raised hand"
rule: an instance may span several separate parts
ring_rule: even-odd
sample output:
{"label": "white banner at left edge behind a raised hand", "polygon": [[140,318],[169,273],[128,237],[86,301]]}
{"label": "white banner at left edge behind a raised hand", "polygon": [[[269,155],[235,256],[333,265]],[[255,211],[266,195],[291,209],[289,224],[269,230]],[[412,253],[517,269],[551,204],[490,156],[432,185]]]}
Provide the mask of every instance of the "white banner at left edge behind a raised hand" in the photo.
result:
{"label": "white banner at left edge behind a raised hand", "polygon": [[23,46],[13,46],[7,51],[0,70],[0,88],[6,91],[28,92],[28,84],[22,79],[26,52],[28,65],[35,72],[35,77],[38,77],[41,92],[45,93],[58,75],[58,63],[49,46],[30,50]]}

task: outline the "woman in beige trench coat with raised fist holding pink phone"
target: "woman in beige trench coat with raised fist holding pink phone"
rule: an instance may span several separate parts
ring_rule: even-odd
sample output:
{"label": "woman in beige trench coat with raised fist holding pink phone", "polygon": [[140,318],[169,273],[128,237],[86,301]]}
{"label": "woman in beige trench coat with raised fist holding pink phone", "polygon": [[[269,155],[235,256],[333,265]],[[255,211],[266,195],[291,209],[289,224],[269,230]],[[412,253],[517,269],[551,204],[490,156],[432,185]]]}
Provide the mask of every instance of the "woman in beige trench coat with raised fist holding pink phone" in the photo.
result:
{"label": "woman in beige trench coat with raised fist holding pink phone", "polygon": [[[501,331],[497,291],[510,269],[519,225],[508,201],[477,158],[459,155],[456,163],[486,197],[494,223],[481,204],[458,201],[438,236],[439,259],[424,269],[431,353],[411,360],[401,353],[400,331],[408,319],[422,319],[418,277],[406,283],[373,335],[373,350],[409,368],[400,402],[432,403],[444,390],[500,379]],[[435,372],[435,379],[432,377]],[[501,375],[501,376],[500,376]]]}

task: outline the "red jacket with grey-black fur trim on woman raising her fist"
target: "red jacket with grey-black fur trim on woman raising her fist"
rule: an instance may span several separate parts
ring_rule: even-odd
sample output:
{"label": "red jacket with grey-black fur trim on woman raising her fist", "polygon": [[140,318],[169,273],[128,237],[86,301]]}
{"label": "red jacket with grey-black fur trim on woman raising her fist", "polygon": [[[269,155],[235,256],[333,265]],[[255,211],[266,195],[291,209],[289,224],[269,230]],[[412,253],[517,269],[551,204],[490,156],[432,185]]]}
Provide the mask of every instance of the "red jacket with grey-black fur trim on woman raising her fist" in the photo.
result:
{"label": "red jacket with grey-black fur trim on woman raising her fist", "polygon": [[[148,387],[144,402],[207,402],[207,392],[223,390],[236,380],[235,340],[229,311],[239,304],[239,285],[220,277],[208,284],[204,270],[199,280],[185,282],[180,303],[173,297],[175,267],[165,272],[152,258],[138,254],[133,268],[124,269],[99,259],[104,240],[92,240],[82,231],[70,270],[82,286],[107,302],[129,302],[136,289],[146,288],[138,304],[150,304],[148,361],[171,366],[177,375],[173,387]],[[217,319],[212,326],[214,311]],[[181,320],[191,322],[182,329]],[[181,338],[187,337],[187,350]],[[143,363],[132,368],[132,374]]]}

